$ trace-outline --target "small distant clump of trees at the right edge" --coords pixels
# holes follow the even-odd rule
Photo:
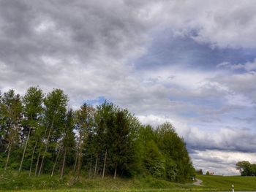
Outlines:
[[[256,164],[251,164],[249,161],[238,161],[236,169],[239,170],[241,176],[255,176]]]

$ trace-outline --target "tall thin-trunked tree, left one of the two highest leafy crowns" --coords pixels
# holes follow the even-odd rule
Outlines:
[[[44,95],[41,89],[37,87],[31,87],[27,90],[25,96],[23,97],[23,115],[26,127],[29,128],[29,133],[26,136],[26,142],[23,148],[23,155],[20,161],[19,172],[22,169],[23,159],[26,153],[26,147],[29,143],[31,131],[34,131],[34,128],[39,127],[39,118],[42,118],[43,96]]]

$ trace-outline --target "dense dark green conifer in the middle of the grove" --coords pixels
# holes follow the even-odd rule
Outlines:
[[[114,178],[117,173],[130,174],[130,166],[135,160],[135,133],[139,127],[137,118],[128,110],[116,108],[114,124],[108,126]]]

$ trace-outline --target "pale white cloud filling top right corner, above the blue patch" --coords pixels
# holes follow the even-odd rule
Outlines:
[[[245,1],[162,1],[159,20],[174,34],[211,47],[255,47],[256,3]]]

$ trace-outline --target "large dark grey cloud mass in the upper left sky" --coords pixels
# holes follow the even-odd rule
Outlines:
[[[112,82],[125,82],[125,61],[144,51],[148,24],[140,7],[118,1],[1,1],[0,7],[1,88],[108,95]]]

